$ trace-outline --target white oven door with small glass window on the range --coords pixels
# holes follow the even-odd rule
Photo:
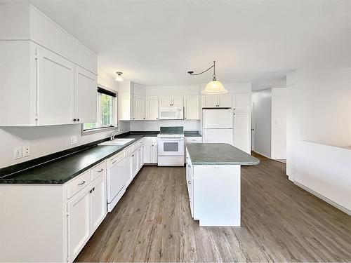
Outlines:
[[[183,137],[158,137],[157,138],[158,156],[184,156]]]

